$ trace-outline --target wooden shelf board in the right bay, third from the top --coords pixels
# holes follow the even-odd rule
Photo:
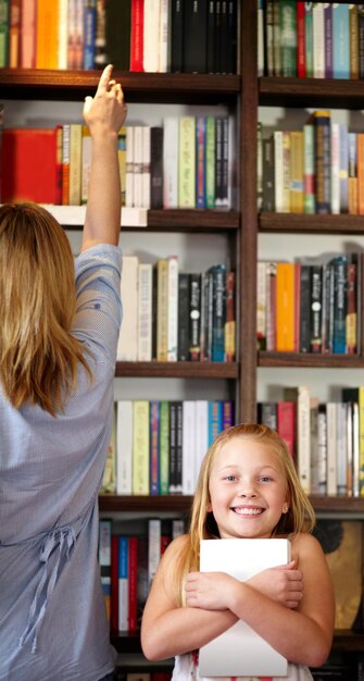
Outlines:
[[[312,367],[315,369],[363,369],[359,355],[315,355],[314,352],[259,352],[259,367]]]

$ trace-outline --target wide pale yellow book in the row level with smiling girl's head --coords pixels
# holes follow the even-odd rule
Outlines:
[[[133,494],[149,494],[149,401],[133,403]]]

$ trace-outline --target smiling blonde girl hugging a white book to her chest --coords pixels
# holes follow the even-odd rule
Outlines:
[[[141,626],[146,657],[176,657],[173,681],[201,679],[198,649],[241,619],[289,660],[281,679],[312,679],[307,666],[326,660],[335,618],[314,522],[277,433],[255,423],[223,432],[202,462],[189,533],[170,544],[153,580]],[[239,537],[289,537],[292,560],[247,582],[198,571],[201,540]],[[243,669],[239,679],[253,681]]]

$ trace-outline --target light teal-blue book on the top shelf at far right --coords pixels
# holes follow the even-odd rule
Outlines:
[[[350,78],[349,3],[332,4],[332,75]]]

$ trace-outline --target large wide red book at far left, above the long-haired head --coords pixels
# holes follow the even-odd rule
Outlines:
[[[57,133],[8,128],[2,133],[2,201],[55,203]]]

